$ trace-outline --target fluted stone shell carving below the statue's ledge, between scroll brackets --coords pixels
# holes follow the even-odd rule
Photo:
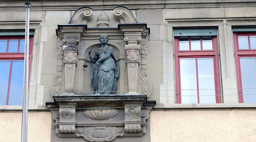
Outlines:
[[[118,114],[118,109],[115,108],[93,108],[93,109],[85,109],[83,111],[84,115],[93,120],[106,120]]]

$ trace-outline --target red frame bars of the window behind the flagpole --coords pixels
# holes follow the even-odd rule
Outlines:
[[[9,80],[8,80],[7,98],[6,98],[6,105],[8,105],[12,62],[13,62],[13,60],[24,60],[25,54],[24,54],[24,52],[19,52],[19,43],[20,43],[20,39],[25,39],[25,36],[0,36],[0,39],[7,39],[6,52],[0,52],[0,60],[11,60]],[[19,39],[17,52],[8,52],[9,39]],[[33,47],[33,36],[29,36],[29,75],[30,75],[31,61],[32,61],[32,47]]]

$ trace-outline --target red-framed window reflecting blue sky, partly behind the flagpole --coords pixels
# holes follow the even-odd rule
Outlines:
[[[32,36],[29,37],[29,42],[30,70]],[[0,105],[23,103],[24,46],[24,36],[0,36]]]

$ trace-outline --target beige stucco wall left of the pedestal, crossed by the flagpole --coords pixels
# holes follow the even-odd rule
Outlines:
[[[50,142],[50,112],[28,113],[28,142]],[[22,112],[0,113],[1,142],[21,141]]]

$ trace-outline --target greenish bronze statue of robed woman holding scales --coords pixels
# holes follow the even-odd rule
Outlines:
[[[89,48],[89,58],[92,62],[91,85],[96,95],[115,94],[117,88],[117,78],[119,76],[119,66],[113,54],[113,47],[107,46],[109,37],[102,35],[99,37],[101,47],[91,56],[92,48]]]

